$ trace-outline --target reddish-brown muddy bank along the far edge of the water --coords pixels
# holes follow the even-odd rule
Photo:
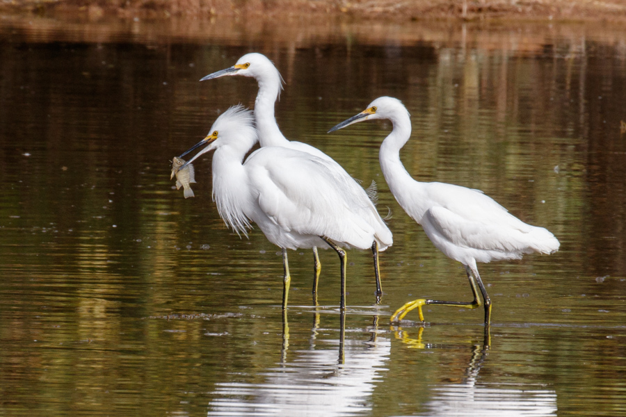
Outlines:
[[[9,0],[3,14],[97,17],[238,16],[318,19],[531,19],[624,22],[626,0]]]

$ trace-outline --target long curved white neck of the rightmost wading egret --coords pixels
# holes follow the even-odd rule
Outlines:
[[[426,211],[426,207],[420,204],[420,201],[424,200],[420,196],[425,192],[425,184],[412,179],[400,160],[400,149],[411,136],[410,119],[406,113],[390,120],[394,129],[380,145],[378,154],[380,169],[383,170],[385,181],[398,204],[411,218],[419,222]]]

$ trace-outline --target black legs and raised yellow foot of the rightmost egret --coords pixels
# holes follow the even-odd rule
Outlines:
[[[476,268],[476,263],[474,262],[473,268],[467,265],[465,266],[465,272],[467,272],[467,279],[470,280],[470,287],[472,288],[472,294],[474,295],[474,300],[472,302],[464,302],[464,301],[441,301],[441,300],[425,300],[423,298],[419,298],[417,300],[410,301],[399,309],[396,310],[394,315],[391,318],[392,322],[402,320],[406,314],[413,310],[417,309],[417,313],[419,314],[419,320],[424,321],[424,313],[422,313],[422,306],[426,304],[436,304],[440,306],[456,306],[456,307],[465,307],[467,309],[476,309],[477,307],[483,305],[481,302],[481,297],[479,296],[479,288],[483,295],[483,299],[485,300],[485,327],[489,327],[491,324],[491,300],[489,295],[487,294],[487,290],[483,285],[483,281],[481,276],[479,275],[478,269]],[[478,287],[478,288],[476,288]],[[487,330],[485,329],[485,332]]]

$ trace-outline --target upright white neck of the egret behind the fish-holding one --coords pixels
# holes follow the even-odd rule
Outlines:
[[[255,100],[255,122],[259,131],[259,144],[265,146],[284,146],[289,142],[276,124],[274,105],[280,94],[280,73],[273,68],[257,78],[259,92]]]

